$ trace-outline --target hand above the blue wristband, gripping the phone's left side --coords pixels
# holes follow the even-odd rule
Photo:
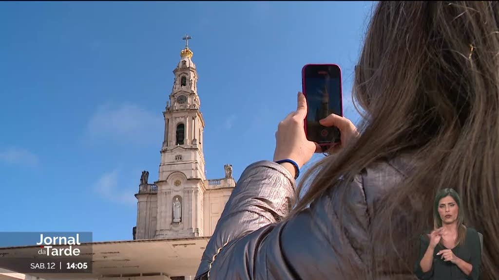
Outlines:
[[[298,106],[295,112],[291,112],[279,123],[275,133],[274,161],[281,159],[292,159],[303,166],[314,154],[320,150],[320,146],[307,140],[303,129],[304,119],[307,115],[307,102],[305,96],[298,93]]]

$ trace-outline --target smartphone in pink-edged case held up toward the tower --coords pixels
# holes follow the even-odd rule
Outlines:
[[[307,64],[301,69],[302,92],[307,101],[305,135],[325,151],[340,142],[340,130],[324,127],[319,120],[330,114],[343,117],[341,69],[336,64]]]

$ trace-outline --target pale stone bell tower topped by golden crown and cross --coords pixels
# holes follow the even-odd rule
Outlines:
[[[159,166],[155,238],[203,236],[205,158],[198,73],[186,35],[173,70],[172,91],[163,116],[165,134]]]

